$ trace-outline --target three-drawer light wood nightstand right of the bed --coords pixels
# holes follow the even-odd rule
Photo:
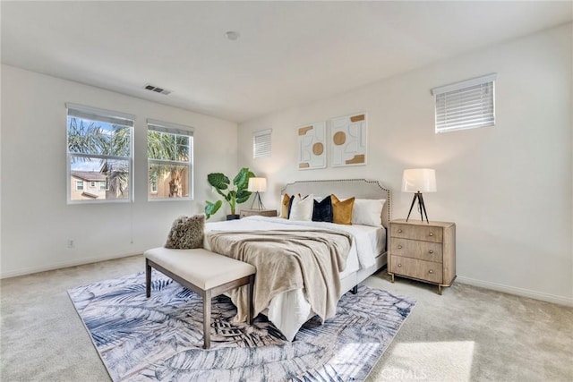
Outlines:
[[[456,278],[456,225],[448,222],[392,220],[388,273],[442,286]]]

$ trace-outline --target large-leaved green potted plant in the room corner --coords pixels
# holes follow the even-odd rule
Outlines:
[[[227,215],[227,220],[238,219],[239,216],[235,213],[235,208],[237,204],[244,203],[251,197],[251,191],[247,191],[249,186],[249,178],[254,177],[255,174],[252,173],[247,167],[243,167],[238,174],[236,174],[235,179],[233,179],[233,184],[227,178],[227,175],[221,173],[211,173],[207,175],[207,182],[219,195],[221,195],[229,206],[231,207],[231,215]],[[216,202],[211,202],[207,200],[207,205],[205,206],[205,215],[209,219],[211,215],[215,215],[218,208],[223,205],[223,200],[218,199]]]

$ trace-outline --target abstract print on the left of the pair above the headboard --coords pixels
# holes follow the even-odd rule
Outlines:
[[[299,170],[326,167],[326,122],[304,125],[298,129]]]

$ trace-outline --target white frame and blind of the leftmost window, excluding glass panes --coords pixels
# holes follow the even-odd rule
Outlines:
[[[90,204],[90,203],[132,203],[133,202],[133,126],[135,124],[135,115],[129,115],[121,112],[115,112],[97,107],[84,106],[66,102],[67,109],[65,134],[66,134],[66,152],[67,152],[67,165],[66,165],[66,193],[67,204]],[[68,128],[67,117],[74,116],[80,119],[88,119],[90,121],[98,121],[103,123],[115,123],[128,126],[130,128],[130,142],[129,142],[129,157],[115,157],[98,154],[84,154],[70,152],[68,148]],[[128,197],[125,199],[72,199],[71,192],[71,179],[72,179],[72,157],[89,157],[94,159],[109,159],[109,160],[122,160],[128,163]],[[84,182],[85,183],[85,182]],[[85,191],[85,187],[84,190]]]

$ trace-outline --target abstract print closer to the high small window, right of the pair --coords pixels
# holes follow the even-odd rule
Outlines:
[[[366,164],[366,114],[346,115],[330,120],[331,165]]]

